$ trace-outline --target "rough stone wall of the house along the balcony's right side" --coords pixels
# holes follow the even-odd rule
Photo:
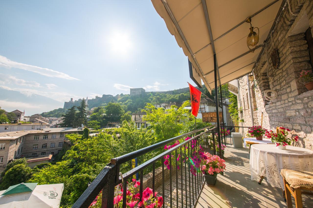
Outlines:
[[[313,33],[313,1],[290,0],[290,6],[291,10],[299,15],[297,17],[291,15],[287,5],[272,33],[273,44],[280,59],[279,68],[273,68],[270,54],[274,47],[270,42],[267,48],[269,63],[267,63],[264,49],[264,53],[254,69],[256,87],[251,90],[257,106],[257,110],[253,112],[254,125],[261,124],[261,113],[263,112],[263,127],[275,130],[276,126],[284,126],[292,129],[293,136],[300,137],[300,142],[294,145],[313,150],[313,91],[307,91],[304,81],[299,76],[302,70],[312,70],[312,67],[309,63],[305,31],[300,31],[297,26],[307,15],[309,22],[307,28],[310,26]],[[271,82],[266,73],[268,66],[269,76],[272,77]],[[271,89],[275,90],[278,96],[268,102],[264,99],[264,90],[270,89],[270,84]],[[239,91],[243,104],[243,97],[246,96],[247,90],[239,88]],[[247,102],[246,98],[245,102]],[[245,121],[244,126],[253,125],[249,110],[244,110],[242,116]]]

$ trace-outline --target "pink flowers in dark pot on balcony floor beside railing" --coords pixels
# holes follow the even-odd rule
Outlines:
[[[206,183],[210,186],[215,186],[217,174],[225,170],[225,161],[217,155],[211,155],[208,152],[204,153],[206,159],[202,160],[202,173]]]

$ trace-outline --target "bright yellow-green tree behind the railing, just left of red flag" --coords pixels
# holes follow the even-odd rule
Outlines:
[[[143,121],[148,122],[151,128],[155,131],[158,141],[163,141],[174,136],[178,136],[180,131],[184,129],[184,123],[192,118],[191,113],[184,107],[190,105],[186,101],[179,108],[172,105],[170,109],[155,108],[152,104],[148,103],[142,112],[146,112],[143,116]]]

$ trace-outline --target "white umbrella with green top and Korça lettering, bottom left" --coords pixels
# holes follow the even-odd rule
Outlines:
[[[0,207],[58,208],[64,189],[63,183],[37,185],[21,183],[0,191]]]

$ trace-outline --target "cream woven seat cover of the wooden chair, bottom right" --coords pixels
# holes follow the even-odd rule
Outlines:
[[[280,175],[292,188],[313,188],[313,172],[282,169]]]

